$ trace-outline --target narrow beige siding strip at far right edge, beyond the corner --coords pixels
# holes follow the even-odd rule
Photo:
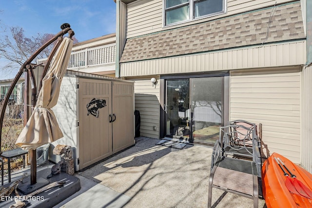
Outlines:
[[[301,164],[312,173],[312,65],[302,72],[302,144]]]

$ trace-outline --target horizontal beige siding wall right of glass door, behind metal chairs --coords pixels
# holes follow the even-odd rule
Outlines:
[[[265,156],[300,163],[300,71],[231,72],[230,121],[262,123]]]

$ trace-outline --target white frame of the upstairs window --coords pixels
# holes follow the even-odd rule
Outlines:
[[[168,8],[168,9],[172,9],[172,8],[175,8],[175,7],[179,7],[181,5],[187,5],[187,4],[190,5],[189,19],[188,20],[179,21],[179,22],[175,22],[175,23],[172,23],[172,24],[166,24],[166,0],[163,0],[162,1],[162,3],[163,3],[163,6],[162,6],[162,8],[163,8],[163,10],[162,10],[162,19],[163,19],[162,23],[163,23],[163,27],[169,27],[169,26],[173,26],[173,25],[182,24],[182,23],[185,23],[185,22],[190,22],[190,21],[194,21],[194,20],[198,20],[198,19],[207,18],[207,17],[214,17],[214,16],[217,16],[217,15],[221,15],[221,14],[227,13],[227,0],[223,0],[223,10],[222,11],[195,18],[194,17],[194,2],[196,2],[196,1],[200,1],[200,0],[189,0],[188,3],[183,3],[183,4],[179,4],[177,6]]]

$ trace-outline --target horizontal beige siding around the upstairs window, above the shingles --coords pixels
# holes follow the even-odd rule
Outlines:
[[[252,11],[264,7],[281,4],[290,0],[228,0],[227,13],[214,17],[198,19],[183,24],[163,27],[163,0],[137,0],[127,4],[127,38],[159,32],[162,30],[196,24],[221,17]]]

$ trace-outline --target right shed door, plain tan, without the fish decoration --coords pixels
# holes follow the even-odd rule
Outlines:
[[[113,152],[135,143],[133,83],[113,82]]]

